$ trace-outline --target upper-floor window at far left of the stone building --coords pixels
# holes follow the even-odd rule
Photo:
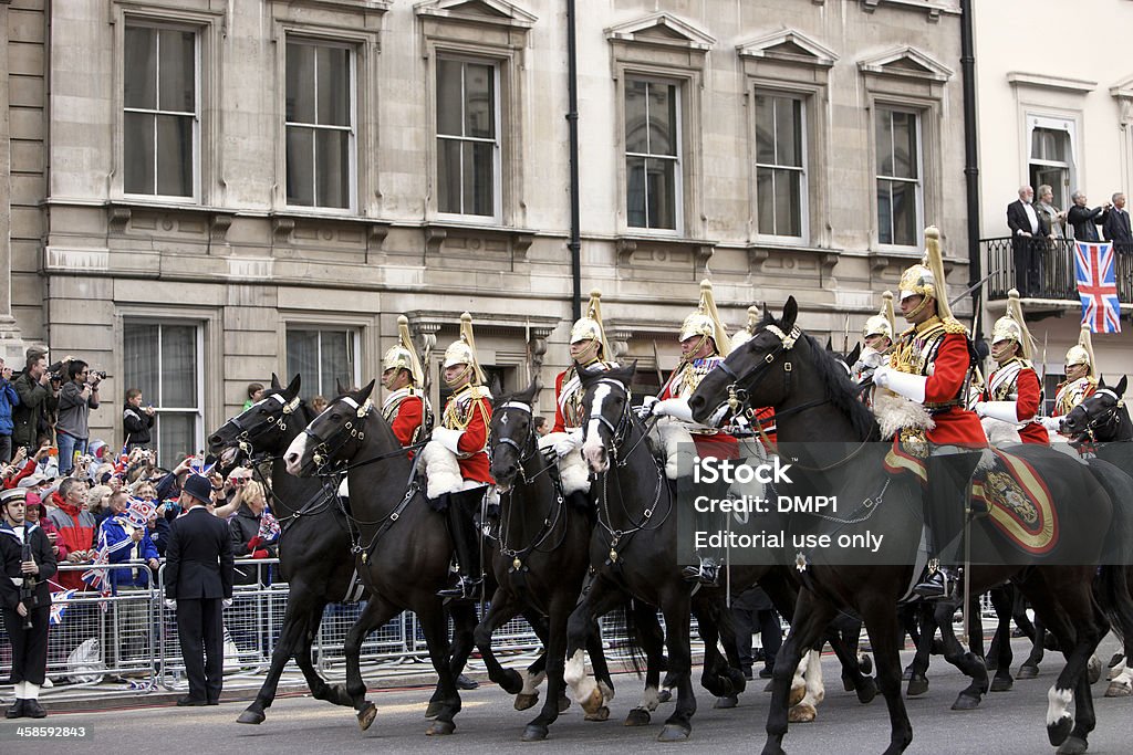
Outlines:
[[[197,34],[129,25],[123,66],[126,194],[196,194]]]

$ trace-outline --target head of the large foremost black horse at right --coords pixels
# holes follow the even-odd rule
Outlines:
[[[790,357],[801,332],[795,328],[799,304],[794,297],[786,300],[783,317],[776,319],[764,308],[764,319],[751,337],[710,370],[692,397],[692,419],[717,427],[724,417],[747,407],[776,406],[786,398]],[[777,378],[777,379],[776,379]]]

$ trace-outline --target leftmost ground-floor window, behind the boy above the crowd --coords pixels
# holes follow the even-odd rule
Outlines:
[[[203,448],[202,346],[202,328],[193,323],[123,324],[123,386],[139,388],[142,401],[156,410],[151,446],[157,458],[184,458]]]

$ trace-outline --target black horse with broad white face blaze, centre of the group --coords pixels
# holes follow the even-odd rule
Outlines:
[[[582,655],[598,617],[628,599],[658,608],[665,619],[668,675],[678,694],[675,709],[658,739],[681,741],[690,736],[696,713],[689,645],[692,590],[676,563],[675,494],[630,409],[632,375],[632,367],[581,375],[582,455],[597,475],[594,484],[598,526],[590,539],[594,578],[569,620],[565,677],[576,698],[585,701],[585,709],[600,705],[603,693],[586,677]],[[721,590],[698,592],[697,617],[705,641],[701,683],[723,697],[742,690],[734,630]],[[718,637],[723,637],[726,661],[716,647]],[[655,669],[661,664],[659,646],[653,642],[644,650],[649,661],[646,695],[628,723],[647,721],[657,704]]]

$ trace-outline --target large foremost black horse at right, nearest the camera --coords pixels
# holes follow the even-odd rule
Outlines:
[[[714,423],[735,406],[743,410],[774,406],[781,443],[807,441],[791,446],[792,454],[798,457],[798,467],[807,471],[807,483],[819,490],[837,490],[840,500],[861,501],[860,505],[851,504],[854,521],[837,522],[837,531],[859,533],[861,522],[866,522],[875,532],[915,543],[922,526],[921,495],[906,480],[912,475],[891,477],[884,471],[887,445],[868,443],[874,428],[872,417],[857,401],[854,387],[844,371],[833,367],[821,348],[795,327],[796,314],[793,298],[789,299],[782,319],[765,314],[764,323],[751,340],[701,381],[689,402],[693,418]],[[730,397],[733,400],[731,405]],[[827,445],[843,441],[844,445],[827,451],[817,441],[827,441]],[[973,566],[965,580],[972,593],[979,594],[1019,575],[1024,592],[1058,637],[1067,658],[1049,695],[1048,736],[1053,744],[1062,745],[1060,753],[1084,752],[1087,736],[1096,723],[1085,663],[1109,628],[1107,616],[1090,589],[1093,565],[1101,558],[1107,535],[1122,538],[1128,532],[1111,532],[1111,524],[1124,526],[1125,522],[1111,520],[1109,498],[1081,464],[1046,448],[1020,448],[1017,453],[1042,472],[1060,514],[1060,540],[1056,548],[1072,549],[1070,552],[1083,566],[1038,566],[1024,570],[1019,565],[1011,565],[1008,557],[1013,554],[1004,552],[1003,566]],[[875,516],[881,509],[879,499],[886,504],[884,517]],[[1073,501],[1073,512],[1065,508],[1068,501]],[[970,537],[989,549],[999,542],[986,520],[973,521]],[[893,539],[887,540],[886,548]],[[1010,548],[1005,542],[1003,547]],[[900,565],[902,556],[906,559],[904,565]],[[823,558],[808,563],[806,554],[799,558],[800,568],[809,573],[809,582],[781,650],[786,666],[798,662],[801,647],[817,638],[836,610],[842,607],[857,610],[869,629],[877,655],[878,684],[889,709],[892,735],[886,752],[904,750],[912,739],[912,727],[900,694],[896,601],[913,576],[908,548],[898,548],[895,552],[883,549],[876,563],[864,565],[828,564]],[[886,563],[897,565],[883,565]],[[947,602],[938,609],[937,623],[951,625],[940,619],[944,611],[951,616],[952,607]],[[980,684],[982,689],[979,692],[986,690],[987,672],[982,662],[971,653],[963,653],[959,642],[949,635],[951,632],[945,632],[946,657],[973,678],[973,685]],[[764,749],[768,754],[783,752],[787,685],[789,671],[776,664]],[[972,693],[971,688],[964,690],[961,700]],[[1076,722],[1070,712],[1072,703]]]

